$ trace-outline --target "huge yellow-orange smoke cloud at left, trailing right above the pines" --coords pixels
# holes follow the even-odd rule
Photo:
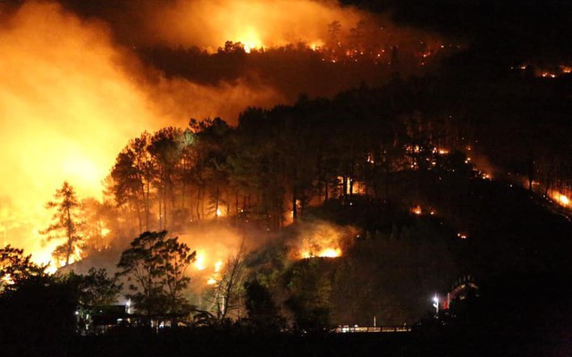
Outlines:
[[[242,83],[199,86],[145,70],[101,21],[55,3],[26,2],[0,24],[0,227],[7,243],[42,246],[44,203],[64,180],[80,196],[101,180],[131,137],[189,117],[236,116],[266,104],[272,91]]]

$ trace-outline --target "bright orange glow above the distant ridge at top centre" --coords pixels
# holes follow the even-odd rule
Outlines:
[[[155,19],[141,24],[139,41],[199,46],[210,52],[225,41],[242,43],[247,53],[299,42],[315,49],[327,40],[328,24],[341,21],[341,30],[349,33],[367,17],[334,1],[308,0],[177,0],[172,6],[156,4],[147,10]]]

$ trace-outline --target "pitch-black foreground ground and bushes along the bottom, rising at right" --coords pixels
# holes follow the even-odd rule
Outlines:
[[[65,333],[56,311],[43,304],[34,316],[13,314],[9,323],[3,316],[0,357],[570,356],[570,281],[570,274],[555,271],[501,274],[439,319],[428,313],[412,332],[399,333],[271,333],[242,323],[77,336]]]

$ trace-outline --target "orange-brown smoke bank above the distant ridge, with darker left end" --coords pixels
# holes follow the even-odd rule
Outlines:
[[[85,16],[104,18],[130,46],[198,46],[216,51],[227,40],[248,46],[324,42],[328,24],[349,30],[367,17],[337,1],[312,0],[96,0],[63,3]],[[99,4],[98,4],[99,3]]]

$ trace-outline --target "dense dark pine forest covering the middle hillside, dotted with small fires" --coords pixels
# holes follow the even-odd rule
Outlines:
[[[73,244],[85,265],[117,260],[145,231],[235,229],[249,242],[240,281],[262,283],[306,328],[414,323],[458,278],[568,271],[555,196],[570,180],[568,78],[471,78],[395,73],[383,87],[247,108],[236,127],[193,119],[144,132],[118,154],[105,202],[82,205]],[[317,257],[324,239],[340,258]]]

